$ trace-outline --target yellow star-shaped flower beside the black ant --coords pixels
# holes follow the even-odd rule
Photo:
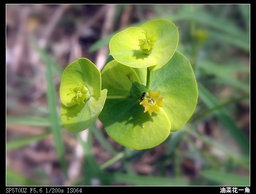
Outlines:
[[[159,107],[164,107],[163,97],[160,96],[159,92],[152,92],[149,90],[147,97],[143,97],[143,100],[139,103],[144,107],[144,113],[148,112],[152,116],[153,112],[159,113]]]

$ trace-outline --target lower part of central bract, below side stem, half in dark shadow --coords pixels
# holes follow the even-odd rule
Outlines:
[[[143,111],[138,100],[107,100],[99,119],[116,142],[133,149],[147,149],[162,143],[171,126],[164,111],[152,116]]]

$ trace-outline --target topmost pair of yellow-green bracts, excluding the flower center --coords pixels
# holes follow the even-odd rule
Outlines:
[[[143,54],[139,39],[144,39],[142,32],[155,35],[156,44],[150,54]],[[178,28],[166,19],[156,19],[140,27],[130,27],[112,37],[109,43],[110,55],[117,62],[133,67],[150,67],[157,70],[164,66],[173,56],[178,45]]]

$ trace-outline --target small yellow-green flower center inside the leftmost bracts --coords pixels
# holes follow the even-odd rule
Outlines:
[[[81,83],[79,83],[73,89],[71,89],[70,87],[70,91],[71,92],[68,93],[67,95],[75,94],[75,96],[72,98],[72,101],[77,102],[78,105],[80,103],[84,103],[84,100],[90,97],[90,93],[87,87],[85,85],[81,85]]]

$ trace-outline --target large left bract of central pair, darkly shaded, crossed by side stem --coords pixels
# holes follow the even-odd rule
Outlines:
[[[132,84],[126,75],[131,73],[138,83],[139,75],[146,77],[143,69],[139,75],[134,70],[115,60],[109,62],[102,70],[102,88],[107,88],[109,95],[130,95]],[[143,110],[137,99],[107,100],[99,119],[116,142],[133,149],[152,148],[168,137],[170,122],[164,111],[151,117]]]

